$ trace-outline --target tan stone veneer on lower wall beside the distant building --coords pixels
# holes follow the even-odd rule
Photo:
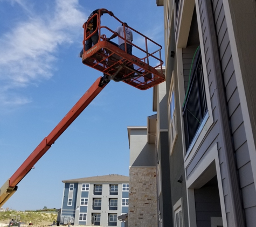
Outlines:
[[[156,168],[129,170],[128,227],[157,227]]]

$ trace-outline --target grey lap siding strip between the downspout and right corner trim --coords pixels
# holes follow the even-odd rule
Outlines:
[[[250,214],[256,206],[256,191],[254,187],[251,161],[246,141],[244,120],[241,112],[240,98],[237,89],[236,75],[234,73],[234,65],[229,34],[227,32],[227,23],[223,8],[223,1],[213,0],[212,5],[215,15],[219,56],[222,65],[224,86],[226,90],[227,108],[229,110],[234,152],[237,158],[240,188],[241,194],[243,196],[243,207],[245,209],[247,226],[255,226],[256,216],[252,216]],[[223,178],[223,182],[225,182],[225,178]],[[224,195],[226,196],[225,189]],[[228,211],[229,209],[227,207],[226,212]],[[227,218],[229,219],[229,216],[227,216]]]

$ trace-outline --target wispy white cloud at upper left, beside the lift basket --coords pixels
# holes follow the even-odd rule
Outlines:
[[[56,0],[53,13],[40,12],[40,16],[27,8],[27,1],[13,2],[30,13],[29,19],[0,37],[0,106],[30,102],[26,97],[10,94],[11,90],[49,79],[55,70],[58,49],[72,43],[85,20],[78,0]]]

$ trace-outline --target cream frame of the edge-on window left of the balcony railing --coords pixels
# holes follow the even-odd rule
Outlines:
[[[172,71],[171,75],[171,84],[170,84],[170,91],[168,97],[168,120],[169,120],[169,146],[170,146],[170,155],[174,151],[174,145],[177,140],[178,136],[178,125],[177,125],[177,103],[176,103],[176,94],[175,94],[175,78],[174,78],[174,71]],[[173,107],[174,111],[171,113],[171,104],[174,101]]]

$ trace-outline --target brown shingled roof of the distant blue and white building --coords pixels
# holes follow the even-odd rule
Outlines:
[[[129,182],[129,176],[123,176],[119,174],[109,174],[105,176],[91,176],[89,178],[78,178],[78,179],[71,179],[71,180],[63,180],[63,183],[66,182]]]

